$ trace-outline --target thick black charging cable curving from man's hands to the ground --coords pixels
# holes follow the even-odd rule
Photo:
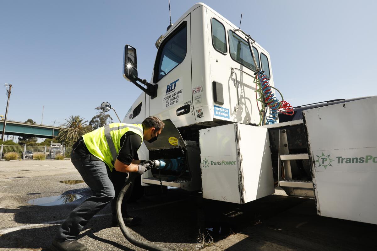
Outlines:
[[[118,198],[116,199],[116,219],[118,220],[118,224],[120,227],[120,230],[122,231],[124,237],[132,243],[135,246],[138,246],[139,248],[144,248],[149,251],[170,251],[166,248],[161,248],[157,245],[154,245],[152,243],[144,242],[142,240],[138,240],[135,237],[132,236],[132,234],[128,231],[128,227],[124,224],[123,217],[122,217],[122,201],[123,198],[128,198],[130,196],[130,191],[128,189],[132,186],[133,181],[135,181],[136,173],[129,173],[129,177],[126,180],[126,183],[124,184],[122,190],[120,191]]]

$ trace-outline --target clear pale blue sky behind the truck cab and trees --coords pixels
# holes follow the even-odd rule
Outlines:
[[[171,0],[174,23],[196,1]],[[275,87],[291,105],[377,94],[376,1],[203,1],[271,56]],[[140,91],[122,76],[123,47],[138,50],[150,80],[164,1],[0,0],[0,114],[51,124],[90,120],[108,101],[123,119]],[[115,114],[110,113],[115,118]]]

